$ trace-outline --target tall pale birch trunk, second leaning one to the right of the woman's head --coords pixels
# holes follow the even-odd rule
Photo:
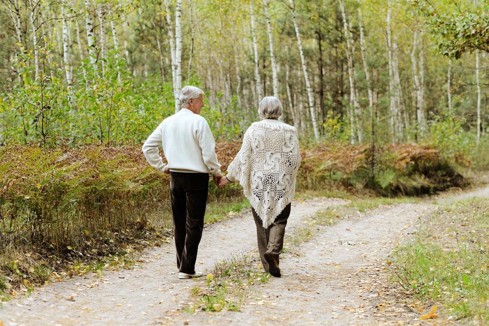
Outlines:
[[[351,111],[351,116],[350,116],[350,123],[353,123],[352,127],[356,128],[356,134],[358,137],[358,141],[362,141],[362,129],[360,122],[358,120],[359,117],[356,116],[357,113],[359,113],[359,103],[356,97],[356,87],[355,87],[355,68],[353,66],[353,40],[350,35],[350,30],[348,28],[348,21],[346,18],[346,8],[345,8],[345,2],[344,0],[338,0],[340,9],[341,9],[341,16],[343,17],[343,32],[345,36],[345,41],[346,41],[346,58],[347,58],[347,66],[348,66],[348,80],[350,82],[350,106],[353,108]],[[351,127],[351,128],[352,128]],[[351,143],[355,143],[355,133],[353,131],[350,132],[350,141]]]

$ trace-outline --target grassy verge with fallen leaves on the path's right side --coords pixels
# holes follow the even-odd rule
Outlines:
[[[442,207],[414,243],[394,253],[395,280],[426,303],[442,303],[454,319],[489,322],[489,201]]]

